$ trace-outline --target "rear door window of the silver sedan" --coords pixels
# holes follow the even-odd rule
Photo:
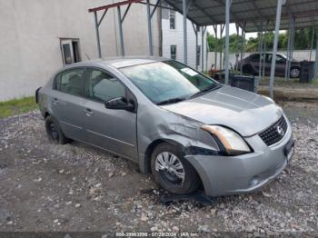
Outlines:
[[[58,74],[55,89],[66,94],[83,95],[84,69],[73,69]]]

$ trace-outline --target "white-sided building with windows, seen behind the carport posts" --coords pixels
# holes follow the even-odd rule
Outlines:
[[[190,20],[187,20],[187,46],[188,65],[201,71],[202,65],[202,29],[199,27],[198,47],[195,49],[194,27]],[[162,9],[162,35],[163,35],[163,56],[184,62],[184,16],[170,9]],[[206,69],[206,31],[204,34],[204,70]]]

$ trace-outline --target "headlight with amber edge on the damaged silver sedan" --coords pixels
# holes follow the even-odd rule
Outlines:
[[[219,125],[204,124],[201,129],[214,134],[224,145],[227,154],[237,155],[251,152],[250,147],[244,142],[241,135]]]

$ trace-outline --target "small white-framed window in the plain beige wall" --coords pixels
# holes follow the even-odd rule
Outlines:
[[[73,64],[81,61],[79,39],[61,39],[63,64]]]

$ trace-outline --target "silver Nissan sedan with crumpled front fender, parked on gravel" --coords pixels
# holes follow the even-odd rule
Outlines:
[[[71,64],[36,99],[52,142],[131,159],[171,193],[251,192],[293,155],[291,125],[273,100],[164,58]]]

